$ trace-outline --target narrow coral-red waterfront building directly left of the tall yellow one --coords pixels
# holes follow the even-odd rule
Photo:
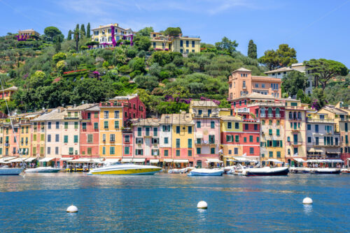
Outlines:
[[[99,106],[85,104],[76,110],[81,111],[80,158],[99,158]]]

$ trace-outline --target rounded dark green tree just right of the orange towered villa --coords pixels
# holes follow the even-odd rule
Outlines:
[[[297,70],[288,72],[282,78],[281,88],[289,96],[295,96],[298,90],[304,91],[307,87],[307,77]]]

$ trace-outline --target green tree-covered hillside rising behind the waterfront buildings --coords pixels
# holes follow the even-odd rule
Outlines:
[[[178,52],[154,51],[146,36],[137,36],[134,46],[96,50],[87,50],[89,41],[80,38],[76,52],[73,40],[57,45],[45,39],[18,42],[14,35],[0,37],[0,70],[6,73],[2,80],[6,87],[20,88],[10,108],[28,112],[131,93],[139,94],[150,115],[188,110],[191,98],[216,99],[221,107],[229,107],[227,82],[232,70],[244,67],[253,75],[267,70],[258,59],[214,45],[203,44],[201,53],[183,57]],[[349,85],[349,77],[334,84],[337,89],[330,88],[330,103],[344,100],[335,92],[347,91],[346,82]]]

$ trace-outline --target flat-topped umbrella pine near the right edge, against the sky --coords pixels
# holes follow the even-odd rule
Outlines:
[[[311,59],[304,62],[315,78],[315,86],[321,84],[322,90],[327,86],[328,81],[338,75],[345,76],[349,73],[348,68],[339,62],[327,59]]]

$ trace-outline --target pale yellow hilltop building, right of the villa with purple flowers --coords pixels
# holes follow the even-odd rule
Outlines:
[[[151,46],[155,50],[168,50],[171,52],[200,52],[200,36],[165,36],[159,32],[151,33]]]

